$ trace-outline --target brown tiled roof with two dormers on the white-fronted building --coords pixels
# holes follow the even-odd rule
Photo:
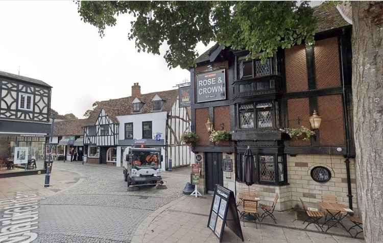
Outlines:
[[[132,98],[132,96],[108,101],[100,101],[98,103],[97,108],[95,108],[90,113],[88,118],[88,124],[94,125],[94,123],[97,121],[97,117],[99,116],[101,109],[105,110],[106,114],[114,123],[118,123],[118,120],[116,118],[116,116],[118,115],[132,115],[158,112],[152,110],[152,99],[156,94],[158,94],[158,96],[160,96],[160,98],[165,101],[165,104],[159,111],[170,112],[173,104],[177,100],[178,89],[141,94],[141,96],[138,97],[138,99],[143,103],[143,106],[139,112],[132,111],[132,101],[135,98]]]

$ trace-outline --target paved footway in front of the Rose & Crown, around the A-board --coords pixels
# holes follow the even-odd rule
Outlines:
[[[218,242],[218,238],[207,228],[212,197],[184,196],[153,212],[142,221],[134,233],[132,243],[146,242]],[[276,216],[278,226],[258,225],[241,222],[245,242],[256,243],[362,243],[364,240],[341,235],[291,229],[286,224],[302,227],[302,221],[294,221],[289,212]],[[266,219],[265,219],[266,221]],[[294,221],[294,222],[293,222]],[[266,221],[266,223],[268,223]],[[304,226],[303,226],[304,227]],[[342,233],[339,229],[332,233]],[[230,229],[225,227],[222,242],[242,242]]]

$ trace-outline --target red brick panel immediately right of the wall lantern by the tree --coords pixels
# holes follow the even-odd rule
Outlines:
[[[342,102],[341,94],[318,97],[318,113],[322,117],[319,128],[319,144],[322,146],[346,144]]]

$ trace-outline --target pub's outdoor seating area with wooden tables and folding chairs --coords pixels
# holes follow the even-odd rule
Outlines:
[[[334,194],[324,194],[318,208],[307,207],[300,199],[299,208],[281,212],[275,211],[278,198],[278,193],[275,193],[271,205],[262,204],[260,192],[250,188],[238,192],[237,210],[243,226],[249,227],[250,222],[255,224],[255,228],[264,224],[353,238],[363,237],[362,220],[353,210],[339,203]]]

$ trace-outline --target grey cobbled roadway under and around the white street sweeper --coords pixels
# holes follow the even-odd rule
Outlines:
[[[55,162],[81,180],[40,201],[38,238],[34,242],[130,242],[150,213],[182,196],[189,168],[164,172],[167,189],[127,191],[121,167]]]

